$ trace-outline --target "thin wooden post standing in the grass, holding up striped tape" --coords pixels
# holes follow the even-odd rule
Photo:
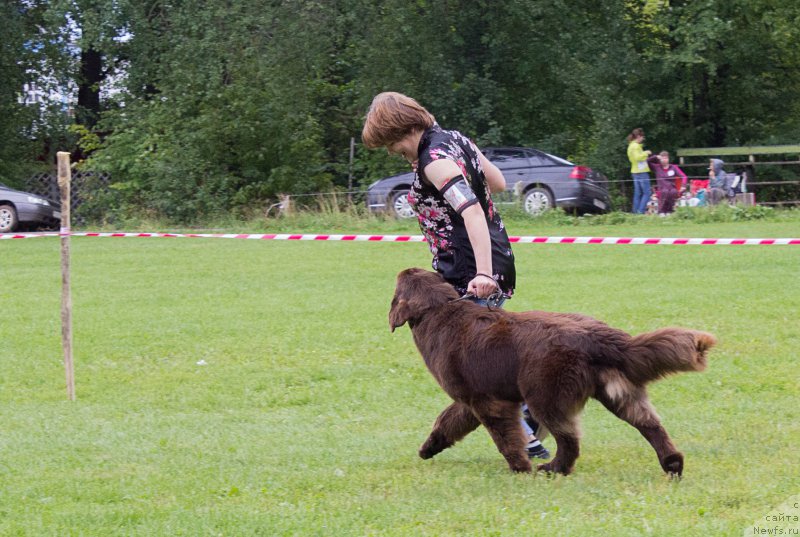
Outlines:
[[[70,170],[69,153],[59,151],[58,188],[61,190],[61,346],[64,349],[64,372],[67,378],[67,398],[75,400],[75,367],[72,361],[72,293],[70,291]]]

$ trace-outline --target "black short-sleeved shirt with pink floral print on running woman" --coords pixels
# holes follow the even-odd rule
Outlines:
[[[503,294],[511,297],[516,282],[514,253],[503,221],[492,203],[477,148],[460,132],[446,131],[434,125],[422,134],[418,155],[408,201],[417,214],[419,227],[433,254],[433,269],[462,295],[467,292],[467,285],[476,272],[475,254],[464,219],[424,173],[425,167],[434,160],[449,159],[461,169],[483,209],[492,242],[492,276],[500,284]]]

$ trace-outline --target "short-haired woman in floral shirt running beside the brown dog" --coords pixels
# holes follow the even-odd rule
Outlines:
[[[416,172],[408,201],[433,254],[433,269],[473,302],[501,306],[516,281],[511,243],[491,197],[505,189],[503,173],[466,136],[442,129],[401,93],[375,96],[362,139],[369,148],[402,156]],[[522,423],[531,435],[528,454],[549,458]]]

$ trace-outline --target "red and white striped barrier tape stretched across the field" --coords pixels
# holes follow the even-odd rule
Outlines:
[[[0,233],[0,239],[30,239],[58,237],[60,233]],[[312,235],[289,233],[96,233],[71,232],[72,237],[161,237],[161,238],[213,238],[289,241],[365,241],[365,242],[425,242],[422,235]],[[646,237],[510,237],[513,243],[530,244],[644,244],[690,246],[800,246],[798,239],[689,239]]]

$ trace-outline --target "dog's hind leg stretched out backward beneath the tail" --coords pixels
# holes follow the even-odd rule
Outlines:
[[[608,392],[611,392],[610,394]],[[614,393],[601,387],[595,394],[612,414],[636,427],[653,446],[661,468],[671,476],[680,477],[683,473],[683,454],[675,448],[669,434],[661,425],[653,405],[647,397],[647,391],[638,386],[624,393]]]

